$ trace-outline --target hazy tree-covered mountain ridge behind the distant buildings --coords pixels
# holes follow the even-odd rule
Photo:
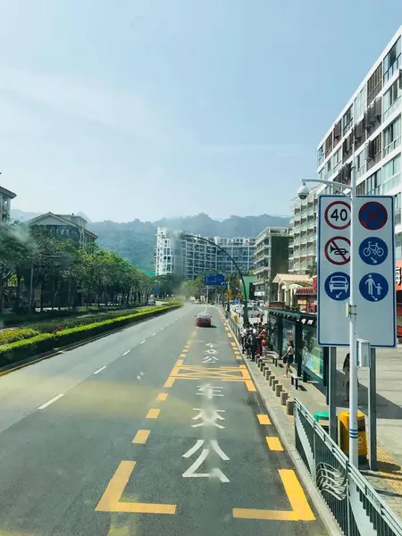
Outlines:
[[[82,213],[80,214],[88,218]],[[26,222],[38,216],[37,213],[25,213],[18,209],[12,210],[12,218]],[[230,216],[226,220],[214,220],[208,214],[200,213],[195,216],[179,218],[163,218],[156,222],[117,223],[111,221],[88,222],[88,229],[98,236],[97,243],[115,251],[144,270],[154,269],[155,234],[157,227],[167,227],[171,230],[183,230],[188,233],[200,234],[205,237],[234,237],[253,238],[265,227],[286,227],[289,217],[270,216]]]

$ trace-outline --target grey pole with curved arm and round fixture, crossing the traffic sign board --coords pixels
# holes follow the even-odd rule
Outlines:
[[[350,297],[348,303],[349,317],[349,460],[350,463],[358,467],[358,448],[357,448],[357,338],[356,338],[356,277],[355,277],[355,256],[356,239],[355,230],[356,221],[356,167],[355,154],[353,155],[350,185],[341,182],[322,179],[302,179],[302,186],[297,190],[297,196],[300,199],[306,199],[309,190],[306,182],[318,182],[336,190],[340,194],[346,195],[350,199]],[[344,194],[344,189],[349,190]]]

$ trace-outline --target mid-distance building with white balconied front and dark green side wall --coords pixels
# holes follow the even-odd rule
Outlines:
[[[272,280],[287,272],[289,263],[289,227],[266,227],[255,239],[255,296],[269,299]]]

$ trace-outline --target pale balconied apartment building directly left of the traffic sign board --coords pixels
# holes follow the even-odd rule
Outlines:
[[[306,199],[294,197],[291,203],[289,273],[303,275],[316,262],[318,191],[310,190]]]

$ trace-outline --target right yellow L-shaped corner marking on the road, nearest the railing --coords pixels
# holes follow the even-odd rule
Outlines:
[[[280,469],[281,481],[289,498],[291,510],[260,510],[256,508],[233,508],[233,517],[260,519],[264,521],[314,521],[306,494],[292,469]]]

